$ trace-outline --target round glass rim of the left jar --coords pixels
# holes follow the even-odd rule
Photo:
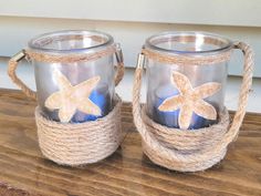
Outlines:
[[[72,48],[72,49],[55,49],[55,48],[44,48],[44,44],[49,44],[53,41],[62,41],[62,38],[76,38],[76,39],[86,39],[86,38],[96,38],[100,39],[101,43],[96,43],[90,47],[82,48]],[[79,52],[90,52],[90,50],[100,50],[105,47],[112,45],[114,39],[112,35],[95,31],[95,30],[63,30],[63,31],[53,31],[40,34],[28,42],[29,49],[48,52],[48,53],[79,53]]]

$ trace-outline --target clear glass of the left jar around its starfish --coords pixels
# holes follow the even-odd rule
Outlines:
[[[60,31],[42,34],[29,42],[29,48],[48,54],[84,54],[104,50],[114,44],[111,35],[96,31]],[[101,80],[92,91],[90,100],[102,111],[95,116],[76,111],[71,123],[94,121],[112,110],[114,95],[114,66],[113,54],[105,55],[95,61],[74,63],[46,63],[33,60],[36,82],[38,103],[43,114],[54,121],[60,121],[59,110],[50,110],[44,105],[45,100],[54,92],[60,91],[54,72],[60,71],[74,86],[91,78],[100,76]],[[61,100],[61,102],[63,102]]]

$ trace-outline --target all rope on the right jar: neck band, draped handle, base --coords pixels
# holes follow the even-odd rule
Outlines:
[[[142,136],[144,153],[157,165],[180,172],[197,172],[207,169],[219,163],[226,155],[228,145],[233,142],[242,124],[248,95],[252,83],[253,52],[249,45],[239,42],[233,44],[234,49],[242,50],[244,54],[243,79],[239,94],[238,111],[230,123],[227,110],[219,113],[219,122],[209,127],[197,131],[184,131],[170,128],[157,124],[146,114],[146,106],[139,104],[140,84],[143,75],[144,58],[167,63],[178,64],[213,64],[223,62],[230,58],[231,51],[223,56],[179,56],[160,54],[143,50],[135,72],[133,89],[133,115],[134,123]]]

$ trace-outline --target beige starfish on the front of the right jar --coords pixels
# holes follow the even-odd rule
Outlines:
[[[179,72],[174,72],[170,80],[178,89],[179,95],[166,99],[158,110],[173,112],[180,109],[178,124],[181,130],[189,127],[194,112],[208,120],[217,118],[217,111],[203,99],[217,93],[221,89],[220,83],[209,82],[194,89],[188,78]]]

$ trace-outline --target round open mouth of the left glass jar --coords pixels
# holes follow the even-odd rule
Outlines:
[[[109,34],[98,31],[58,31],[32,39],[29,48],[44,52],[84,52],[113,43]]]

